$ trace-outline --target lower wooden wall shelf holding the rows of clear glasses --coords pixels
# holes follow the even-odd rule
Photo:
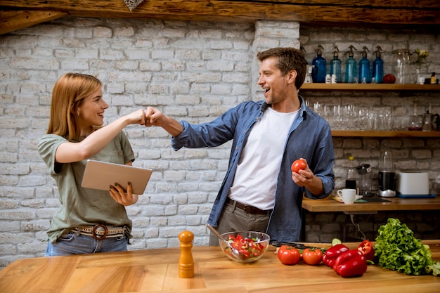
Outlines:
[[[332,130],[333,137],[417,137],[439,138],[440,131],[362,131]]]

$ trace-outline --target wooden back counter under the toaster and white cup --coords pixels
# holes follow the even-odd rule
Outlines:
[[[344,204],[330,198],[324,200],[309,200],[304,198],[302,208],[311,212],[344,211],[347,214],[368,214],[376,211],[423,211],[440,209],[440,197],[407,198],[400,197],[372,197],[389,200],[389,202],[355,202]]]

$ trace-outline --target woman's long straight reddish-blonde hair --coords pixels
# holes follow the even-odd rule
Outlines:
[[[53,86],[51,117],[46,134],[72,141],[79,137],[77,108],[84,98],[101,89],[102,83],[88,74],[66,73]]]

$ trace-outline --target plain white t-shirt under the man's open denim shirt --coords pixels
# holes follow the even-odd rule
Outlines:
[[[229,197],[259,209],[273,209],[287,134],[299,115],[267,108],[256,122],[240,155]]]

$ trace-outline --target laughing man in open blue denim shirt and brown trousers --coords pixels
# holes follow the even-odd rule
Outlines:
[[[327,197],[335,187],[335,161],[330,126],[306,108],[298,95],[306,60],[295,48],[271,48],[261,61],[259,102],[246,101],[212,122],[177,122],[147,108],[145,126],[162,126],[172,148],[214,147],[233,140],[228,171],[214,201],[208,223],[219,233],[257,230],[271,242],[299,241],[302,198]],[[306,169],[291,171],[302,158]],[[218,245],[211,235],[209,245]]]

